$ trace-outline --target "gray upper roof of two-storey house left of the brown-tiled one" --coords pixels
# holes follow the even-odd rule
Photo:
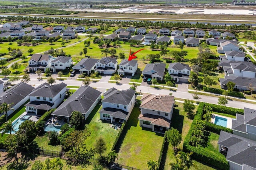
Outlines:
[[[135,94],[135,90],[129,88],[128,90],[113,90],[112,92],[105,95],[102,102],[106,103],[114,103],[114,104],[122,104],[129,105],[132,100],[134,100],[133,96]]]

